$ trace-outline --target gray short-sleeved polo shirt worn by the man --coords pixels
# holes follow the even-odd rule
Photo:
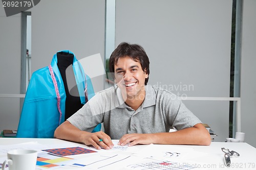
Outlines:
[[[145,86],[145,92],[144,102],[135,111],[124,103],[117,86],[110,87],[97,93],[68,121],[88,132],[103,122],[105,133],[112,139],[130,133],[169,132],[173,127],[180,130],[201,123],[172,92],[150,85]]]

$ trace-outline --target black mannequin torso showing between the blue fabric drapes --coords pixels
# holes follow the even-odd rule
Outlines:
[[[74,55],[70,53],[57,53],[57,66],[66,92],[65,120],[83,106],[80,101],[75,75],[72,68],[73,58]]]

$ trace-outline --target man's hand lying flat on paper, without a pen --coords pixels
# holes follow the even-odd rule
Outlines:
[[[118,145],[124,146],[129,143],[129,147],[135,144],[151,144],[153,143],[153,134],[125,134],[119,140]]]

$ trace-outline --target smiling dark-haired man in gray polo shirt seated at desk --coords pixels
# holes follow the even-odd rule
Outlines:
[[[111,149],[118,144],[209,145],[210,135],[201,121],[177,96],[147,85],[150,61],[137,44],[120,43],[110,57],[116,85],[96,94],[61,124],[56,138]],[[99,123],[104,132],[90,133]],[[178,131],[169,132],[175,127]],[[102,140],[101,140],[102,139]]]

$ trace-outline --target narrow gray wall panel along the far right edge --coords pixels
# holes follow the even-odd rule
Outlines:
[[[245,141],[256,147],[256,1],[246,0],[242,17],[241,131]]]

